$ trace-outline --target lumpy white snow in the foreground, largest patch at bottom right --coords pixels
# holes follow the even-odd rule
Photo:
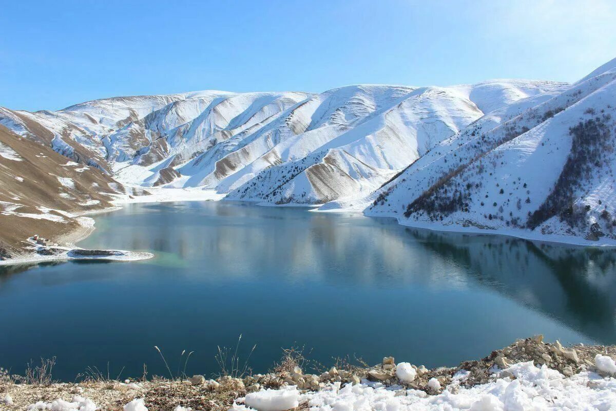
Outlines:
[[[611,369],[614,360],[602,357]],[[284,411],[298,402],[308,401],[312,411],[403,411],[403,410],[616,410],[616,379],[602,378],[594,372],[582,372],[570,378],[545,365],[533,362],[514,364],[506,370],[515,378],[500,378],[472,388],[460,386],[463,372],[436,396],[423,391],[386,387],[381,383],[339,383],[314,393],[301,394],[296,389],[265,390],[248,394],[245,404],[235,404],[233,411]],[[258,396],[258,397],[257,397]],[[240,399],[241,400],[241,399]],[[241,402],[241,401],[240,401]]]

